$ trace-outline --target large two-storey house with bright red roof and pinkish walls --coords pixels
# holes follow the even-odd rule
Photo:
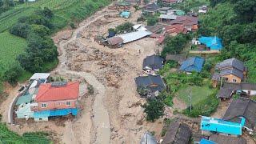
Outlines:
[[[54,82],[39,86],[32,110],[55,110],[78,107],[79,82]]]

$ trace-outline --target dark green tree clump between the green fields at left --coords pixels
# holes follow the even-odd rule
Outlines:
[[[31,73],[46,71],[43,66],[57,59],[57,47],[50,38],[54,30],[54,25],[51,23],[53,17],[54,13],[48,8],[36,10],[30,16],[19,18],[10,28],[10,34],[26,38],[28,45],[25,52],[17,57],[19,64],[14,63],[2,75],[5,81],[16,82],[22,70]]]

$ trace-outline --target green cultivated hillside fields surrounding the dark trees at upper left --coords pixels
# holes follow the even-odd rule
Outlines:
[[[47,7],[54,13],[54,18],[51,20],[54,25],[51,34],[54,34],[63,27],[69,26],[70,23],[80,22],[108,3],[108,0],[98,0],[97,2],[93,0],[38,0],[37,2],[16,3],[10,10],[0,13],[0,41],[5,42],[0,47],[0,64],[2,66],[0,75],[8,70],[9,66],[16,61],[17,55],[26,48],[26,40],[9,34],[10,28],[18,22],[19,18],[29,16],[34,14],[35,10]]]

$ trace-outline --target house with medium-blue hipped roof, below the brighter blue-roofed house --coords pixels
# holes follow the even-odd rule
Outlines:
[[[187,58],[186,61],[182,62],[182,66],[179,70],[186,71],[186,72],[201,72],[202,66],[205,62],[204,58],[201,57],[190,57]]]

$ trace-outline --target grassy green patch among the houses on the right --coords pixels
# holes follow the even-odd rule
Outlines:
[[[214,92],[214,90],[211,90],[208,86],[190,86],[178,90],[178,98],[182,99],[183,102],[186,102],[187,105],[190,104],[190,98],[188,96],[190,91],[192,95],[192,105],[198,104],[198,102],[208,98],[208,96]]]

